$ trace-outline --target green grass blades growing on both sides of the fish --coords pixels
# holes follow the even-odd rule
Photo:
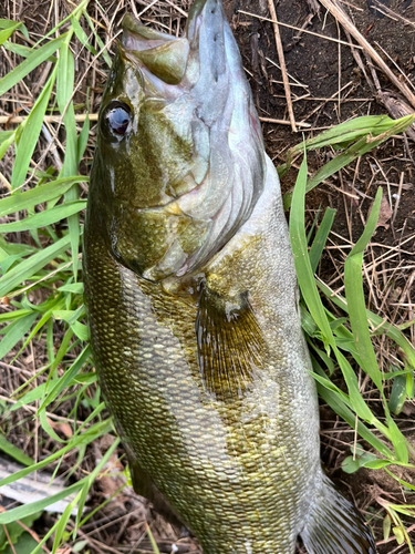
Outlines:
[[[15,155],[8,183],[10,191],[0,199],[0,216],[6,222],[0,225],[3,234],[0,238],[0,297],[4,305],[0,314],[0,322],[3,324],[0,358],[8,359],[11,366],[27,348],[33,349],[37,343],[42,343],[45,352],[44,363],[33,366],[31,377],[14,390],[11,399],[1,400],[4,433],[0,434],[0,450],[24,469],[1,481],[0,486],[44,468],[52,469],[55,475],[69,455],[74,460],[75,471],[93,441],[114,433],[101,401],[91,360],[80,271],[85,207],[82,184],[89,181],[84,155],[90,122],[87,102],[74,104],[74,42],[79,48],[87,49],[94,60],[100,57],[104,66],[110,64],[108,54],[87,13],[87,3],[86,0],[81,1],[72,13],[30,48],[12,41],[17,32],[29,39],[24,24],[0,20],[0,44],[22,60],[0,80],[0,96],[4,98],[41,64],[51,64],[46,82],[28,116],[15,129],[0,132],[0,158],[4,160],[11,147]],[[76,120],[79,112],[84,115],[81,127]],[[44,132],[45,115],[56,114],[61,116],[64,129],[64,138],[62,132],[59,135],[60,140],[64,140],[63,162],[59,167],[49,165],[41,170],[33,157],[39,157],[40,141],[48,137]],[[290,235],[313,376],[323,401],[356,433],[352,453],[344,460],[343,469],[349,472],[362,466],[372,471],[385,469],[407,493],[414,491],[414,486],[396,473],[396,468],[415,469],[411,463],[414,452],[396,424],[394,413],[400,412],[406,400],[414,398],[415,349],[405,330],[366,309],[362,271],[365,249],[377,222],[382,191],[377,191],[364,232],[345,259],[344,296],[334,294],[315,277],[334,211],[328,208],[321,220],[315,219],[312,232],[307,233],[304,207],[308,191],[392,135],[403,132],[414,120],[414,116],[398,121],[386,116],[354,119],[291,148],[286,164],[279,167],[283,176],[294,160],[303,156],[297,185],[284,196],[284,203],[287,207],[291,206]],[[334,147],[336,155],[308,177],[307,152],[328,146]],[[51,147],[49,142],[48,148]],[[3,177],[2,181],[7,179]],[[9,235],[11,240],[7,240],[7,234],[12,234]],[[396,351],[395,366],[388,371],[380,365],[374,349],[374,339],[381,335]],[[380,399],[377,404],[374,406],[363,394],[356,368],[373,383]],[[339,381],[338,369],[343,381]],[[388,398],[385,390],[391,390]],[[7,431],[20,424],[11,423],[13,414],[24,407],[34,407],[35,425],[40,425],[43,437],[48,437],[53,444],[53,452],[42,459],[37,448],[32,449],[35,455],[29,456],[7,439]],[[65,438],[56,432],[51,420],[53,413],[61,412],[61,420],[71,425],[71,433]],[[80,413],[83,419],[80,419]],[[34,427],[33,440],[39,438],[37,429]],[[359,442],[361,439],[364,448]],[[34,517],[56,500],[75,493],[62,516],[30,552],[40,552],[49,540],[52,553],[58,552],[63,543],[74,541],[76,532],[82,531],[92,515],[83,516],[91,488],[105,473],[105,464],[117,447],[118,440],[115,440],[90,473],[69,484],[54,497],[0,513],[0,525]],[[406,542],[413,553],[406,522],[414,517],[414,506],[392,503],[383,497],[378,504],[378,513],[373,515],[383,519],[385,540],[393,533],[396,542]],[[69,525],[74,507],[77,515]],[[157,552],[149,530],[148,535]]]

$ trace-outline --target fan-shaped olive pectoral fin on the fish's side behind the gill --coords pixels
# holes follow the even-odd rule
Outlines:
[[[241,398],[263,367],[266,343],[248,293],[224,298],[205,287],[196,337],[203,382],[218,400]]]

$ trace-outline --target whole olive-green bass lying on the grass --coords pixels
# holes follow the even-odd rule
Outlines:
[[[280,184],[220,0],[173,37],[123,20],[83,271],[134,489],[205,554],[374,554],[325,475]]]

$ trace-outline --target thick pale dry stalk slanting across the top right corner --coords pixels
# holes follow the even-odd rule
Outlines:
[[[336,6],[333,0],[320,0],[320,2],[344,27],[344,29],[350,32],[350,34],[359,42],[363,50],[369,53],[369,55],[378,65],[378,68],[390,78],[391,82],[401,91],[406,100],[411,102],[411,105],[415,107],[415,95],[411,92],[405,83],[402,83],[397,79],[395,73],[386,65],[376,50],[367,42],[363,34],[357,31],[357,29],[344,13],[344,11],[339,6]]]

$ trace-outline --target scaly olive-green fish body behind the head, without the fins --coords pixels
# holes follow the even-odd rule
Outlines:
[[[263,367],[235,398],[206,390],[191,293],[141,279],[105,253],[98,236],[86,246],[94,358],[105,394],[134,462],[206,554],[268,554],[277,544],[291,552],[321,480],[315,387],[299,315],[287,309],[297,304],[294,270],[286,225],[279,228],[273,217],[279,196],[272,196],[266,228],[262,218],[258,227],[246,225],[204,273],[215,293],[249,291],[267,342]]]

